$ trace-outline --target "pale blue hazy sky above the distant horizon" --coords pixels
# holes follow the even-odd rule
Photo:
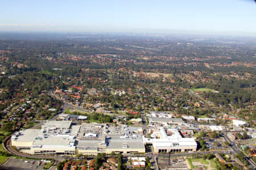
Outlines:
[[[8,0],[0,31],[151,32],[256,36],[253,0]]]

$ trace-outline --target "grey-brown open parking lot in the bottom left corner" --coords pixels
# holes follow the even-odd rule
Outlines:
[[[40,170],[43,169],[43,164],[38,164],[40,160],[24,160],[24,159],[10,159],[3,165],[0,165],[0,169],[21,169],[21,170]]]

